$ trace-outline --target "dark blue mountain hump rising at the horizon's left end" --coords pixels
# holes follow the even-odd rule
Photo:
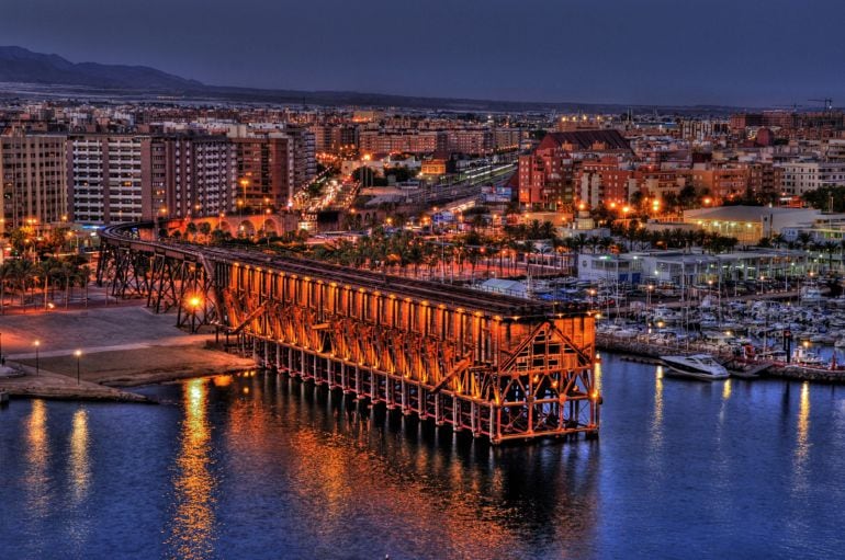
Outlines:
[[[196,80],[146,66],[74,64],[21,47],[0,47],[0,81],[161,91],[203,88]]]

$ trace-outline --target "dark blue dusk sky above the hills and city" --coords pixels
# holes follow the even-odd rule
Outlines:
[[[0,0],[0,43],[213,84],[845,105],[843,0]]]

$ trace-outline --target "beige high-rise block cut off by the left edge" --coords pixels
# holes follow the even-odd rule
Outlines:
[[[65,137],[0,137],[0,231],[67,219]]]

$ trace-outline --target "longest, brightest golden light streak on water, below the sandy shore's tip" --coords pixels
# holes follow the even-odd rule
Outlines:
[[[177,507],[168,544],[173,558],[202,559],[213,556],[214,487],[210,472],[211,430],[206,379],[189,381],[184,390],[185,418],[181,449],[173,481]]]

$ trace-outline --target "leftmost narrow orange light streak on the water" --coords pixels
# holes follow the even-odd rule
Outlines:
[[[47,405],[43,400],[32,401],[32,414],[26,422],[26,473],[24,484],[29,490],[27,510],[38,517],[49,513],[50,480],[47,473],[49,438],[47,437]]]

